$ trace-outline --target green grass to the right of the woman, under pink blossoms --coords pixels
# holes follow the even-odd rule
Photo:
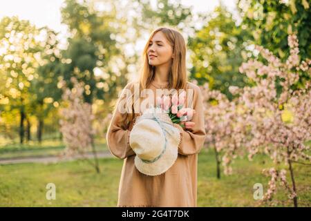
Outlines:
[[[272,161],[264,155],[257,155],[252,162],[246,158],[238,158],[232,164],[233,174],[221,174],[216,177],[216,163],[212,151],[206,149],[199,155],[198,164],[198,206],[269,206],[261,204],[261,200],[254,200],[253,186],[263,184],[263,193],[267,191],[270,177],[261,173],[263,169],[275,167]],[[281,169],[287,169],[281,166]],[[294,164],[294,175],[299,195],[299,206],[311,206],[311,168],[301,164]],[[287,179],[291,186],[290,173]],[[288,200],[288,193],[282,186],[278,186],[273,206],[292,206]]]

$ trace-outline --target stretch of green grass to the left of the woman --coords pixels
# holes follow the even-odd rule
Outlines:
[[[114,206],[121,160],[100,160],[101,173],[82,160],[0,166],[0,206]],[[46,200],[46,184],[57,200]]]

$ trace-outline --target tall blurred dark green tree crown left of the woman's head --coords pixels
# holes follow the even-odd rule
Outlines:
[[[100,15],[85,1],[67,0],[62,8],[62,21],[72,37],[68,39],[68,48],[62,51],[62,57],[68,62],[62,62],[61,72],[68,85],[70,77],[84,82],[84,98],[88,103],[93,103],[94,96],[104,99],[104,90],[96,84],[105,81],[95,77],[94,68],[104,68],[111,57],[120,53],[115,47],[115,39],[111,38],[117,30],[109,26],[114,16],[113,12]],[[105,92],[109,93],[109,90]]]

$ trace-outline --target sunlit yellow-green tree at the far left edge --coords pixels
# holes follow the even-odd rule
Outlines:
[[[18,17],[0,21],[0,93],[8,99],[6,111],[19,110],[19,142],[23,143],[24,121],[30,108],[29,88],[39,77],[36,68],[41,51],[39,29]],[[29,133],[28,133],[29,134]]]

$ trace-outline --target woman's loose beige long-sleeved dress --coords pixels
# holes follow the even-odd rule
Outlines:
[[[135,82],[126,85],[127,89],[133,89]],[[149,87],[156,95],[156,86]],[[124,159],[117,206],[196,206],[197,205],[197,166],[198,152],[205,140],[205,121],[202,104],[202,93],[196,84],[187,82],[187,89],[193,89],[192,108],[196,110],[192,122],[195,126],[191,129],[183,129],[174,124],[180,130],[181,142],[178,146],[178,158],[171,168],[161,175],[149,176],[140,173],[134,164],[135,152],[129,145],[129,135],[133,123],[124,130],[117,124],[122,117],[115,109],[106,141],[109,149],[115,157]],[[158,89],[159,90],[159,89]],[[154,96],[156,106],[156,96]],[[187,104],[186,106],[190,106]],[[141,114],[141,113],[140,113]],[[140,115],[138,114],[138,115]]]

